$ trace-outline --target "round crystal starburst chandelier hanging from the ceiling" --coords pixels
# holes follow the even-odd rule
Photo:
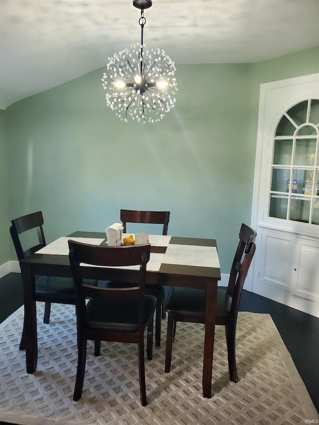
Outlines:
[[[164,112],[174,106],[177,90],[174,62],[159,48],[144,51],[143,29],[146,23],[144,9],[152,6],[152,0],[133,0],[133,5],[141,9],[141,43],[121,50],[109,58],[107,73],[103,73],[103,87],[107,105],[125,122],[132,120],[157,122]]]

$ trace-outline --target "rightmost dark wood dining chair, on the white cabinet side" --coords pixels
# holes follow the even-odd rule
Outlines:
[[[228,367],[230,379],[238,382],[236,366],[236,323],[242,288],[255,254],[254,240],[257,234],[245,224],[241,225],[239,243],[230,271],[227,290],[217,289],[215,323],[225,326]],[[171,364],[172,343],[176,332],[176,322],[205,323],[206,291],[204,289],[171,287],[165,309],[167,318],[167,338],[165,355],[165,372]]]

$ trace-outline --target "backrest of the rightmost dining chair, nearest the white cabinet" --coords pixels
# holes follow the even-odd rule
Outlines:
[[[238,283],[238,275],[242,268],[243,255],[244,253],[249,254],[251,252],[252,243],[255,240],[256,236],[257,236],[257,233],[254,229],[242,223],[240,231],[239,231],[239,243],[238,243],[233,264],[231,267],[229,282],[227,287],[227,292],[232,297],[234,296],[235,286]],[[253,251],[255,252],[255,250]],[[246,263],[247,261],[248,260],[246,260]],[[247,272],[248,272],[248,269],[246,271],[246,275],[247,275]]]

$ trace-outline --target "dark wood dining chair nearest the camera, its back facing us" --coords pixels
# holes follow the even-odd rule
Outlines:
[[[87,340],[95,341],[95,355],[100,354],[102,341],[138,344],[140,395],[146,406],[144,331],[147,328],[147,357],[152,359],[153,320],[156,298],[145,295],[146,265],[150,260],[151,246],[107,247],[69,241],[69,259],[76,293],[76,318],[78,335],[78,367],[73,400],[81,398],[84,382]],[[136,266],[132,287],[109,288],[83,283],[80,263],[93,266]],[[114,269],[112,270],[114,278]],[[106,269],[106,275],[110,269]],[[119,277],[121,277],[121,272]],[[86,305],[86,298],[90,300]]]

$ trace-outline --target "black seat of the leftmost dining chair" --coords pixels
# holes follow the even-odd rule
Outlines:
[[[74,298],[75,290],[73,280],[70,278],[58,278],[55,276],[42,276],[35,282],[37,296]]]

